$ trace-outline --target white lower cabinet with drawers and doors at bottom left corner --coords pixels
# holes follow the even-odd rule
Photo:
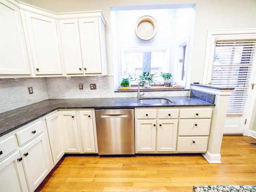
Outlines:
[[[54,166],[44,118],[2,136],[0,150],[1,192],[32,192]]]

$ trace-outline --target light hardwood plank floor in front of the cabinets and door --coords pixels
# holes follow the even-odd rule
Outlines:
[[[256,185],[256,147],[224,136],[221,164],[201,155],[64,156],[37,192],[192,192],[194,185]]]

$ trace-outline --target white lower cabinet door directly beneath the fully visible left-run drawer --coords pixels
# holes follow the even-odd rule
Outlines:
[[[42,133],[20,149],[30,191],[34,191],[51,170],[45,137]]]

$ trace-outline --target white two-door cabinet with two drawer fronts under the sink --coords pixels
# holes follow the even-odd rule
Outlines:
[[[178,110],[139,108],[135,118],[136,153],[176,151]]]

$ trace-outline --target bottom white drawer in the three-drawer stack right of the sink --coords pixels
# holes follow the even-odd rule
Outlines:
[[[206,152],[208,136],[178,137],[177,152]]]

